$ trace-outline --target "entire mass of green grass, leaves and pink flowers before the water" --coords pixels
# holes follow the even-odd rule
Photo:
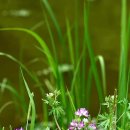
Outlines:
[[[72,36],[71,25],[69,19],[66,18],[66,38],[63,36],[60,25],[58,24],[56,17],[51,9],[47,0],[42,0],[42,3],[47,9],[47,12],[53,21],[53,24],[58,33],[59,42],[63,51],[69,50],[69,54],[65,54],[66,64],[61,64],[58,53],[56,51],[56,43],[53,37],[53,32],[48,22],[48,18],[45,15],[46,25],[51,39],[51,45],[53,51],[49,49],[47,43],[41,38],[36,32],[25,29],[25,28],[1,28],[0,31],[18,31],[23,32],[37,41],[36,48],[39,52],[43,53],[47,60],[47,74],[49,75],[45,81],[46,88],[43,87],[42,82],[40,82],[39,77],[32,73],[20,60],[15,57],[0,52],[0,56],[7,57],[13,62],[20,66],[20,75],[24,83],[24,88],[29,97],[29,105],[24,109],[24,115],[27,116],[26,123],[23,129],[35,130],[37,129],[36,123],[36,106],[35,106],[35,92],[31,92],[31,87],[28,85],[23,75],[25,71],[29,77],[30,81],[35,82],[40,85],[38,89],[42,97],[44,98],[43,104],[43,121],[38,123],[39,129],[58,129],[58,130],[77,130],[77,129],[88,129],[88,130],[129,130],[130,129],[130,104],[128,99],[128,86],[129,86],[129,73],[127,73],[128,68],[128,41],[129,41],[129,30],[127,30],[127,18],[126,18],[126,2],[127,0],[122,0],[122,10],[121,10],[121,56],[120,56],[120,73],[119,73],[119,86],[115,90],[113,96],[107,96],[106,88],[106,76],[105,76],[105,62],[103,56],[95,56],[93,47],[91,44],[91,39],[89,36],[89,11],[90,4],[86,1],[84,2],[84,37],[80,43],[78,35],[78,16],[76,16],[75,38],[74,42]],[[77,5],[76,5],[77,7]],[[129,23],[129,22],[128,22]],[[67,39],[67,40],[66,40]],[[68,41],[68,44],[65,42]],[[81,50],[80,50],[80,48]],[[90,66],[87,70],[86,68],[86,57],[87,54],[90,58]],[[69,63],[69,62],[70,63]],[[98,71],[97,62],[100,63],[101,77]],[[69,79],[69,86],[66,86],[66,80],[64,78],[64,71],[71,73],[71,78]],[[86,72],[88,73],[86,74]],[[128,77],[128,78],[127,78]],[[92,93],[92,82],[95,81],[95,90],[97,90],[99,105],[102,109],[100,110],[98,116],[94,119],[90,116],[88,110],[90,109],[90,103],[92,99],[90,97]],[[2,83],[0,84],[2,90]],[[20,85],[21,86],[21,85]],[[22,85],[23,86],[23,85]],[[22,106],[25,105],[24,98],[21,98],[18,92],[9,85],[4,88],[9,90],[15,98],[18,98]],[[49,92],[49,93],[48,93]],[[48,93],[48,94],[46,94]],[[25,102],[24,102],[25,101]],[[104,103],[105,102],[105,103]],[[8,107],[11,102],[5,103],[3,107],[0,108],[0,114],[3,109]],[[48,108],[50,109],[48,117]],[[88,110],[86,109],[88,108]],[[77,111],[76,111],[77,110]],[[51,118],[54,119],[51,120]],[[31,119],[29,124],[28,120]],[[47,125],[45,125],[47,122]],[[55,123],[54,123],[55,122]],[[49,123],[51,125],[49,125]],[[55,125],[56,124],[56,125]],[[4,127],[1,127],[4,130]],[[12,129],[12,127],[10,127]]]

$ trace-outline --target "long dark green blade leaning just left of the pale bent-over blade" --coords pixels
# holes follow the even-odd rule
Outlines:
[[[92,66],[92,72],[93,72],[93,75],[94,75],[95,83],[96,83],[96,89],[97,89],[97,92],[98,92],[99,102],[102,103],[104,101],[104,95],[103,95],[103,90],[102,90],[100,78],[99,78],[97,67],[96,67],[94,52],[93,52],[93,49],[92,49],[92,45],[91,45],[91,41],[90,41],[90,37],[89,37],[89,33],[88,33],[88,10],[89,9],[87,9],[87,7],[85,5],[84,6],[85,42],[86,42],[89,57],[90,57],[90,62],[91,62],[91,66]]]

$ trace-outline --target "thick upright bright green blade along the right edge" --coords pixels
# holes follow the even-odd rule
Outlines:
[[[123,100],[127,96],[127,68],[128,68],[128,39],[129,39],[129,21],[127,30],[127,0],[121,1],[121,51],[120,51],[120,67],[119,67],[119,85],[118,85],[118,98]],[[124,110],[118,107],[118,117]],[[122,129],[125,129],[126,116],[123,115],[121,122]]]

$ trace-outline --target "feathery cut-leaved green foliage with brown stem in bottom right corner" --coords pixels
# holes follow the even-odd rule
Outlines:
[[[117,100],[117,95],[108,96],[105,98],[105,105],[107,107],[108,112],[98,115],[98,127],[99,130],[129,130],[130,129],[130,105],[127,99],[124,100]],[[122,108],[121,116],[117,116],[117,105]],[[125,109],[125,106],[127,108]],[[126,115],[126,124],[124,128],[118,126],[118,122],[122,120],[122,118]]]

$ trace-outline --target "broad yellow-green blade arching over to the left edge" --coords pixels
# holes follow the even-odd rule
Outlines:
[[[48,60],[49,65],[50,65],[50,67],[52,69],[53,75],[57,80],[57,87],[58,87],[58,89],[61,89],[62,103],[64,104],[64,106],[66,106],[65,88],[64,88],[64,84],[63,84],[62,75],[58,71],[58,66],[57,66],[54,58],[52,57],[52,54],[51,54],[50,50],[48,49],[45,41],[37,33],[33,32],[33,31],[29,30],[29,29],[25,29],[25,28],[1,28],[0,31],[20,31],[20,32],[25,32],[25,33],[31,35],[40,44],[40,46],[42,47],[42,52],[47,57],[47,60]]]

